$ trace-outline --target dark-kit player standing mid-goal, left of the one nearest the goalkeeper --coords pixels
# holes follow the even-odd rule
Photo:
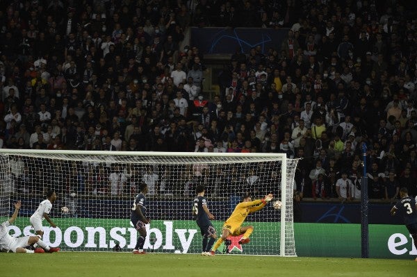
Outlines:
[[[136,196],[135,201],[133,202],[133,207],[131,210],[131,221],[133,226],[138,230],[139,237],[138,242],[136,242],[135,249],[133,249],[133,254],[146,254],[143,251],[143,244],[145,244],[146,238],[146,228],[145,225],[149,224],[150,220],[145,217],[146,210],[146,197],[145,195],[148,192],[147,184],[140,184],[140,194]]]

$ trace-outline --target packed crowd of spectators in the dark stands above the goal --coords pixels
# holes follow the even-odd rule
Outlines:
[[[296,189],[416,196],[416,10],[407,1],[1,2],[0,144],[10,149],[279,152]],[[208,99],[190,26],[286,28],[236,53]]]

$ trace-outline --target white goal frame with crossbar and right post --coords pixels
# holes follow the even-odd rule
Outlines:
[[[288,199],[288,193],[291,193],[291,199],[293,192],[287,192],[286,183],[287,183],[287,158],[286,153],[211,153],[211,152],[153,152],[153,151],[80,151],[80,150],[35,150],[35,149],[0,149],[0,155],[16,155],[16,156],[38,156],[38,155],[46,155],[48,158],[57,158],[63,159],[63,156],[74,156],[74,155],[82,155],[82,156],[148,156],[148,157],[213,157],[213,158],[221,158],[221,157],[235,157],[235,158],[276,158],[277,161],[281,162],[281,214],[280,214],[280,242],[279,242],[279,256],[281,257],[296,257],[297,254],[295,252],[295,245],[294,245],[294,252],[291,254],[286,255],[285,246],[288,240],[286,237],[286,228],[287,226],[287,212],[286,212],[286,205]],[[288,160],[296,160],[296,159],[288,159]],[[100,160],[102,162],[102,160]],[[6,192],[6,199],[9,199],[9,210],[10,210],[10,196],[12,192],[8,190]],[[285,197],[284,197],[285,196]],[[293,218],[289,224],[293,224]],[[294,233],[294,231],[293,231]],[[293,236],[293,234],[292,234]],[[295,244],[295,238],[292,237],[293,243]]]

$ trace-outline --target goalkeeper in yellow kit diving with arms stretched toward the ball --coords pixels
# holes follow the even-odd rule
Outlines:
[[[263,199],[258,199],[252,201],[251,196],[246,194],[243,196],[243,202],[238,203],[236,208],[231,213],[230,217],[224,222],[222,227],[222,236],[215,242],[213,249],[211,249],[211,255],[214,255],[215,251],[220,247],[222,242],[224,242],[227,237],[234,236],[237,237],[243,234],[243,237],[240,239],[239,244],[247,244],[250,242],[249,236],[252,234],[254,227],[253,226],[243,226],[243,221],[245,221],[247,215],[257,210],[261,210],[265,207],[266,203],[271,201],[274,198],[272,194],[268,194]]]

